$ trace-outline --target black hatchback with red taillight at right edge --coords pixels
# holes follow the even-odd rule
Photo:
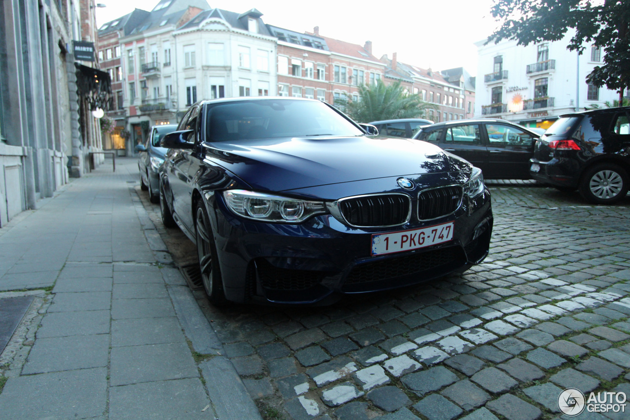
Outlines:
[[[536,142],[532,178],[587,201],[612,204],[626,196],[630,174],[630,107],[561,115]]]

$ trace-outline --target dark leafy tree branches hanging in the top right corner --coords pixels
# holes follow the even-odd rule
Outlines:
[[[491,14],[501,27],[488,42],[558,41],[574,29],[567,49],[582,54],[585,43],[604,49],[604,65],[596,66],[587,82],[618,90],[622,102],[630,87],[630,0],[495,0]]]

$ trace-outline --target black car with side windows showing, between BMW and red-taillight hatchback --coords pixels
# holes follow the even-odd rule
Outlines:
[[[487,179],[529,179],[529,160],[539,134],[499,119],[426,125],[413,139],[433,143],[481,168]]]

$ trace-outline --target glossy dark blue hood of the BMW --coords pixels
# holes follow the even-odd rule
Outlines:
[[[268,191],[471,168],[433,144],[401,138],[291,137],[204,147],[207,158],[253,189]]]

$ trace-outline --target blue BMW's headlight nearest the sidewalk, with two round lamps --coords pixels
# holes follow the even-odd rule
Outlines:
[[[321,201],[305,201],[246,190],[223,192],[227,207],[247,219],[275,223],[301,223],[314,214],[327,213]]]

